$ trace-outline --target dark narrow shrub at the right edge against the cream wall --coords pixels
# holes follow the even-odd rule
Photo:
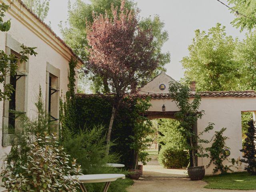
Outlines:
[[[240,161],[246,163],[244,168],[251,175],[256,175],[256,128],[254,126],[254,121],[250,120],[248,122],[248,132],[246,133],[247,138],[244,142],[244,148],[240,150],[243,152],[243,159]]]

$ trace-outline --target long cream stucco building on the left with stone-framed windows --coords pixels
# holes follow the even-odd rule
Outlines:
[[[35,51],[38,53],[37,56],[29,56],[26,64],[19,64],[15,79],[15,101],[12,101],[15,106],[14,110],[32,117],[35,114],[34,103],[39,94],[39,86],[41,86],[46,111],[49,111],[52,118],[58,122],[59,97],[61,92],[65,94],[68,89],[68,63],[71,57],[77,59],[76,69],[78,69],[82,62],[20,0],[0,0],[0,4],[2,3],[10,6],[4,20],[11,19],[11,28],[8,32],[0,32],[0,50],[18,57],[21,51],[20,46],[24,44],[28,47],[37,47]],[[13,80],[6,77],[6,82],[10,83],[10,81]],[[0,86],[2,89],[2,85]],[[11,122],[16,129],[15,120],[11,120],[9,114],[12,104],[8,100],[0,102],[0,158],[11,148],[10,138],[12,138],[13,132],[10,132],[8,124]],[[0,163],[0,167],[1,165],[2,163]]]

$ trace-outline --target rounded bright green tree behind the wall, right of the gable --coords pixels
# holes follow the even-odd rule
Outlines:
[[[227,36],[226,27],[217,23],[206,33],[196,30],[188,46],[189,56],[182,59],[185,80],[196,81],[197,90],[236,90],[242,77],[242,63],[234,58],[238,39]]]

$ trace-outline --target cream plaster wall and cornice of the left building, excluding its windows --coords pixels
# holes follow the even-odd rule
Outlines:
[[[68,90],[68,62],[74,56],[56,36],[40,23],[32,14],[20,5],[18,0],[0,0],[0,3],[10,5],[4,20],[11,19],[11,29],[8,32],[0,32],[0,50],[6,48],[6,34],[17,42],[29,47],[37,47],[37,56],[29,57],[28,78],[28,113],[29,117],[35,115],[36,97],[39,93],[39,85],[42,87],[42,96],[46,96],[46,63],[49,62],[55,68],[60,69],[60,91],[65,94]],[[0,85],[1,86],[1,85]],[[1,86],[2,87],[2,86]],[[0,88],[1,88],[0,87]],[[2,115],[3,101],[0,102],[0,143],[2,144]],[[0,146],[0,158],[10,151],[10,146]],[[0,160],[0,167],[2,160]]]

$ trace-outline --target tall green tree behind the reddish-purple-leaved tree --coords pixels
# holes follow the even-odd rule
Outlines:
[[[88,52],[86,51],[88,46],[87,34],[86,34],[86,22],[92,23],[94,14],[108,14],[112,17],[111,5],[120,8],[121,0],[90,0],[90,3],[83,2],[82,0],[76,0],[72,6],[70,1],[68,5],[68,20],[66,26],[60,24],[61,33],[64,41],[70,46],[76,55],[80,56],[84,62],[88,62]],[[136,10],[136,4],[132,0],[126,0],[125,8],[128,10]],[[120,10],[118,9],[118,12]],[[162,46],[164,42],[168,40],[168,33],[164,30],[164,22],[162,22],[159,16],[153,18],[143,18],[139,22],[139,26],[143,30],[152,30],[154,35],[155,55],[159,57],[159,67],[148,77],[147,80],[141,81],[138,86],[141,86],[146,81],[151,80],[156,76],[163,66],[170,62],[170,54],[162,53]],[[85,71],[88,72],[88,71]],[[95,76],[89,73],[90,79],[93,84],[91,90],[94,92],[110,92],[107,80],[101,76]]]

